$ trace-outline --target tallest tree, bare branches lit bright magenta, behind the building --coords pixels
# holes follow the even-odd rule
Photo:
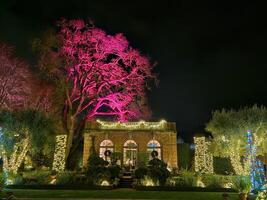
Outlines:
[[[39,48],[41,74],[64,95],[62,119],[70,159],[86,120],[148,118],[145,92],[155,75],[149,59],[122,34],[108,35],[83,20],[61,20],[58,26],[56,35],[49,32],[34,46]]]

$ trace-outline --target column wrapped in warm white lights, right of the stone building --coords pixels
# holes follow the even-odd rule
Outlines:
[[[213,173],[213,156],[209,153],[210,142],[205,137],[194,137],[195,143],[195,171],[200,173]]]

